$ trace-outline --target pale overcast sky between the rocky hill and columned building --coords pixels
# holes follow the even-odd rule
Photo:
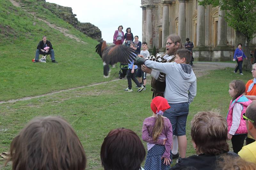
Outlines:
[[[46,2],[71,7],[80,22],[89,22],[99,27],[103,40],[113,42],[119,25],[123,32],[131,27],[133,36],[142,39],[142,9],[140,0],[46,0]]]

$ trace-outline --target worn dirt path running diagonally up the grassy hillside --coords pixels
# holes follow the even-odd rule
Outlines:
[[[14,1],[14,0],[9,0],[14,6],[16,6],[16,7],[21,7],[21,3],[20,2],[17,2],[17,1]],[[21,7],[22,8],[22,7]],[[26,11],[24,8],[22,8],[24,11]],[[28,11],[26,11],[26,12],[28,12]],[[71,38],[71,39],[75,39],[77,42],[80,42],[80,43],[83,43],[83,44],[88,44],[87,42],[84,42],[84,41],[82,41],[81,39],[79,39],[79,38],[77,38],[76,36],[74,36],[74,35],[72,35],[72,34],[69,34],[68,33],[68,29],[66,29],[66,28],[61,28],[61,27],[59,27],[59,26],[57,26],[57,25],[54,25],[54,24],[51,24],[51,23],[49,23],[48,21],[45,21],[45,20],[43,20],[43,19],[41,19],[41,18],[37,18],[36,17],[36,13],[33,13],[33,12],[28,12],[29,14],[31,14],[31,15],[33,15],[34,16],[34,18],[36,18],[36,19],[38,19],[38,20],[40,20],[40,21],[43,21],[45,24],[47,24],[49,27],[51,27],[51,28],[54,28],[55,30],[58,30],[58,31],[60,31],[61,33],[63,33],[66,37],[69,37],[69,38]]]

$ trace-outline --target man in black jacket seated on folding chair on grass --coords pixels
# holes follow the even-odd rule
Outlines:
[[[48,49],[47,49],[48,48]],[[54,58],[54,51],[52,48],[52,44],[50,41],[46,40],[46,36],[43,36],[43,40],[40,41],[37,45],[37,49],[36,49],[36,58],[34,63],[39,62],[39,54],[43,54],[43,55],[51,55],[51,59],[53,63],[57,63],[57,61]]]

